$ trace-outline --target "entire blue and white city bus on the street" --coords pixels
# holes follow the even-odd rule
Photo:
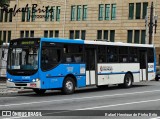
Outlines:
[[[60,89],[133,82],[155,77],[155,48],[147,44],[84,41],[61,38],[19,38],[10,41],[7,86],[37,94]]]

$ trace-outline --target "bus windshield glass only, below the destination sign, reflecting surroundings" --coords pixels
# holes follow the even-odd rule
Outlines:
[[[38,69],[38,48],[10,48],[8,69],[11,70],[37,70]]]

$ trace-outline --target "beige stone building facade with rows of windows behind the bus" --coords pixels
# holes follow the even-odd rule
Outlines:
[[[11,0],[10,6],[0,11],[0,44],[19,37],[149,43],[151,2]],[[153,16],[158,16],[158,20],[156,34],[153,27],[152,43],[156,46],[157,64],[160,64],[160,2],[153,0],[153,6]]]

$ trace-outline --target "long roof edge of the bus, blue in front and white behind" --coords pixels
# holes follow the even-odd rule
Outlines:
[[[41,41],[52,41],[57,43],[73,43],[73,44],[91,44],[91,45],[111,45],[111,46],[130,46],[130,47],[154,47],[153,44],[134,44],[123,42],[105,42],[105,41],[92,41],[82,39],[65,39],[65,38],[18,38],[18,39],[40,39]],[[18,40],[14,39],[14,40]]]

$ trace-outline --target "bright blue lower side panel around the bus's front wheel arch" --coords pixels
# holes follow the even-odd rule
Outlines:
[[[86,86],[85,64],[60,64],[49,71],[40,70],[41,88],[62,88],[67,75],[73,75],[77,80],[77,87]]]

